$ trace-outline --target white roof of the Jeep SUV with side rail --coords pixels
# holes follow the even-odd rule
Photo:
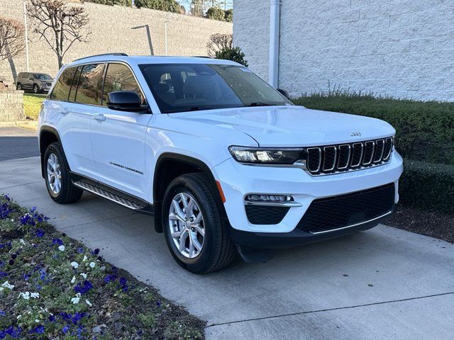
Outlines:
[[[166,56],[128,56],[128,55],[95,55],[86,57],[67,64],[66,67],[90,62],[126,62],[127,64],[231,64],[240,65],[231,60],[211,59],[209,57],[166,57]]]

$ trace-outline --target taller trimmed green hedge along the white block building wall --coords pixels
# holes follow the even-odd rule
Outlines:
[[[377,98],[338,90],[302,96],[293,102],[385,120],[397,130],[396,147],[405,159],[454,165],[454,103]]]

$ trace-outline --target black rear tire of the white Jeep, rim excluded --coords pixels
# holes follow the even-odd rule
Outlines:
[[[61,175],[60,179],[61,186],[60,191],[58,191],[57,193],[52,191],[47,170],[48,159],[49,157],[51,157],[52,154],[54,154],[57,157],[58,164],[60,164],[59,168]],[[45,150],[43,162],[45,185],[48,188],[48,193],[52,200],[55,200],[55,202],[60,204],[77,202],[82,197],[82,193],[84,193],[84,191],[72,185],[65,154],[63,153],[62,145],[59,142],[52,143],[51,145],[48,146],[48,149]]]

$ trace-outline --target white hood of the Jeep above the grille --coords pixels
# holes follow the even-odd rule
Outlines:
[[[197,122],[244,132],[260,147],[342,144],[389,137],[395,133],[394,128],[382,120],[302,106],[261,106],[171,116],[188,120],[189,124]]]

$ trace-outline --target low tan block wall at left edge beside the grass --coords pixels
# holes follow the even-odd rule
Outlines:
[[[23,91],[4,87],[0,83],[0,122],[26,120],[23,111]]]

